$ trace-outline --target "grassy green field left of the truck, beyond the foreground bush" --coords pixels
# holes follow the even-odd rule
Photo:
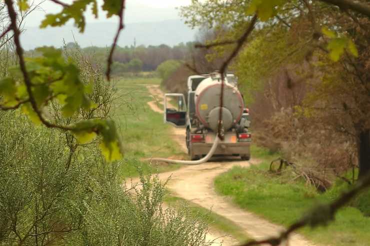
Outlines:
[[[186,158],[179,145],[171,139],[170,126],[163,123],[163,115],[153,112],[147,105],[153,99],[145,85],[159,83],[159,78],[125,78],[116,83],[118,94],[124,95],[115,109],[124,151],[124,177],[137,176],[137,167],[143,173],[165,172],[180,167],[175,164],[151,166],[142,161],[145,158]]]

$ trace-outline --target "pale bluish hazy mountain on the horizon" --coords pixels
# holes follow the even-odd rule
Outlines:
[[[33,49],[38,46],[60,47],[62,39],[66,42],[73,41],[73,35],[81,47],[109,46],[117,30],[117,23],[96,22],[87,23],[85,32],[79,33],[73,26],[27,27],[21,36],[24,49]],[[136,45],[175,45],[180,42],[193,41],[195,30],[185,25],[181,20],[164,20],[159,22],[127,23],[119,37],[118,45],[131,45],[136,39]]]

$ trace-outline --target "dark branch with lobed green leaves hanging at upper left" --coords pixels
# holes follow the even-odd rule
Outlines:
[[[116,1],[106,1],[103,5],[103,9],[108,10],[110,15],[115,13],[114,4],[112,5],[114,2]],[[21,6],[20,9],[28,7],[24,3],[22,5],[21,1],[18,3]],[[96,2],[94,1],[94,3]],[[23,83],[17,81],[16,73],[11,77],[0,80],[0,95],[2,96],[0,109],[10,110],[22,107],[22,111],[28,114],[34,122],[42,123],[48,128],[70,131],[81,143],[92,141],[96,135],[100,135],[102,137],[100,148],[105,158],[108,161],[120,159],[122,156],[121,143],[113,121],[94,119],[80,121],[74,125],[61,125],[52,123],[43,117],[40,107],[46,106],[49,101],[55,98],[63,105],[61,110],[66,117],[72,117],[80,108],[88,110],[93,108],[94,105],[85,95],[88,92],[88,87],[80,80],[79,69],[72,61],[65,61],[60,50],[43,47],[38,48],[38,51],[43,54],[41,57],[24,57],[20,44],[20,30],[17,26],[17,12],[13,7],[14,2],[13,0],[5,0],[5,4],[8,9],[10,23],[1,36],[4,36],[10,30],[13,32],[15,53],[19,60],[19,70]],[[70,8],[73,7],[73,4],[75,2],[64,7],[63,11],[72,11]],[[123,11],[123,5],[121,9]],[[72,13],[74,12],[72,11]],[[64,16],[63,13],[59,14]],[[69,15],[61,22],[57,22],[56,25],[65,23],[68,18],[72,17],[79,20],[78,16]],[[58,18],[58,14],[48,15],[42,25],[53,25],[55,23],[50,22],[50,19]],[[78,22],[78,24],[83,29],[84,21]]]

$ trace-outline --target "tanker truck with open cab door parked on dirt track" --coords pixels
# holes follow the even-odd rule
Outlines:
[[[187,100],[180,93],[164,95],[164,123],[186,129],[185,141],[190,159],[198,160],[211,149],[222,110],[224,138],[219,140],[213,156],[239,156],[242,160],[249,160],[249,113],[234,74],[224,76],[222,109],[219,73],[192,75],[187,79],[187,89]]]

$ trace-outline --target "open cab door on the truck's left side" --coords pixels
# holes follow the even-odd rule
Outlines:
[[[164,94],[164,123],[186,127],[186,102],[183,94]]]

